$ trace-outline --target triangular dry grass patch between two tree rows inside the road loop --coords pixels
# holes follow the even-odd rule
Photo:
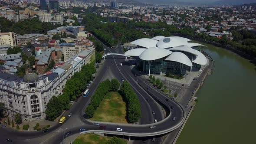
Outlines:
[[[118,92],[108,92],[91,120],[128,124],[126,120],[126,106],[121,95]]]

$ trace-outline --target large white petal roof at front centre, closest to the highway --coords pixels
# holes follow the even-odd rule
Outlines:
[[[159,49],[157,47],[151,47],[144,50],[144,52],[141,53],[140,59],[147,60],[147,61],[156,60],[156,59],[164,58],[165,56],[168,56],[171,53],[172,52],[167,49]]]

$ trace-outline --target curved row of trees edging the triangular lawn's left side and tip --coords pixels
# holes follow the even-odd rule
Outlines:
[[[94,95],[92,95],[91,103],[85,109],[85,114],[89,118],[92,118],[106,93],[109,91],[118,91],[119,87],[120,83],[117,79],[112,79],[111,81],[109,79],[106,79],[105,81],[101,82],[98,85]]]

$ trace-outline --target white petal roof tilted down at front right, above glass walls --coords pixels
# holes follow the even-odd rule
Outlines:
[[[180,62],[187,66],[192,66],[192,62],[190,59],[182,52],[173,52],[170,56],[168,56],[165,61],[174,61]]]

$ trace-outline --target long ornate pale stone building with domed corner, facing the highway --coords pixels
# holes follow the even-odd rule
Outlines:
[[[62,94],[74,69],[79,72],[83,65],[94,60],[95,49],[90,48],[74,56],[70,63],[62,63],[51,73],[40,77],[34,73],[27,73],[23,78],[0,73],[0,102],[5,104],[9,115],[19,113],[23,121],[44,119],[47,103],[53,96]]]

